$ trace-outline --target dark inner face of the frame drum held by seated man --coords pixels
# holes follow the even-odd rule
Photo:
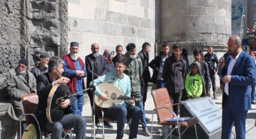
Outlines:
[[[52,95],[52,100],[50,104],[50,117],[52,122],[59,122],[61,120],[62,115],[64,113],[64,109],[60,107],[59,98],[64,97],[66,95],[66,87],[64,85],[59,85],[54,94]]]

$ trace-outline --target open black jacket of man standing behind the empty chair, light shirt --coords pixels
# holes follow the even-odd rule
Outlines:
[[[156,58],[154,58],[149,63],[149,67],[153,69],[153,75],[152,75],[152,78],[151,78],[151,82],[155,83],[155,84],[156,84],[156,81],[157,81],[158,72],[160,71],[159,67],[160,67],[161,56],[162,55],[163,55],[163,52],[160,52],[159,55],[156,56]],[[168,54],[168,56],[170,57],[171,55]]]

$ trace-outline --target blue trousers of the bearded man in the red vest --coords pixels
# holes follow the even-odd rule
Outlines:
[[[83,92],[73,95],[74,102],[70,109],[72,114],[81,115],[83,110]]]

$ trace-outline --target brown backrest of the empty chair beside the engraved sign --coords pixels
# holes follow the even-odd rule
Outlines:
[[[159,88],[156,90],[152,90],[151,95],[154,100],[155,108],[169,107],[171,108],[171,110],[173,110],[170,96],[166,88]],[[156,114],[157,114],[157,120],[159,124],[165,122],[167,118],[174,117],[173,113],[166,108],[157,109]]]

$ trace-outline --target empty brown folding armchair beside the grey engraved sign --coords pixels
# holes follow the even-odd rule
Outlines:
[[[181,139],[182,134],[191,125],[195,126],[195,134],[196,134],[196,138],[198,139],[197,129],[196,129],[196,124],[198,123],[198,120],[195,119],[194,117],[190,117],[189,120],[186,120],[186,121],[183,121],[183,122],[178,122],[178,119],[177,119],[178,117],[175,114],[175,112],[173,112],[173,105],[171,104],[169,93],[168,93],[166,88],[159,88],[159,89],[153,90],[151,95],[152,95],[152,98],[153,98],[154,104],[155,104],[155,108],[153,109],[153,112],[152,112],[151,139],[152,139],[152,130],[153,130],[154,111],[156,111],[157,120],[158,120],[158,123],[160,125],[167,125],[167,126],[177,125],[178,133],[179,133],[179,138],[178,139]],[[178,104],[182,104],[182,103],[177,103],[175,105],[178,105]],[[185,107],[186,107],[186,105],[185,105]],[[192,115],[194,115],[188,107],[186,107],[186,108],[189,110],[189,112]],[[176,118],[177,121],[175,121],[175,122],[166,122],[167,118]],[[186,129],[182,132],[182,134],[180,134],[180,125],[183,126],[183,127],[186,127]],[[171,129],[171,132],[170,132],[170,134],[168,134],[168,136],[171,135],[171,133],[174,131],[174,129]],[[165,139],[167,139],[167,137]]]

